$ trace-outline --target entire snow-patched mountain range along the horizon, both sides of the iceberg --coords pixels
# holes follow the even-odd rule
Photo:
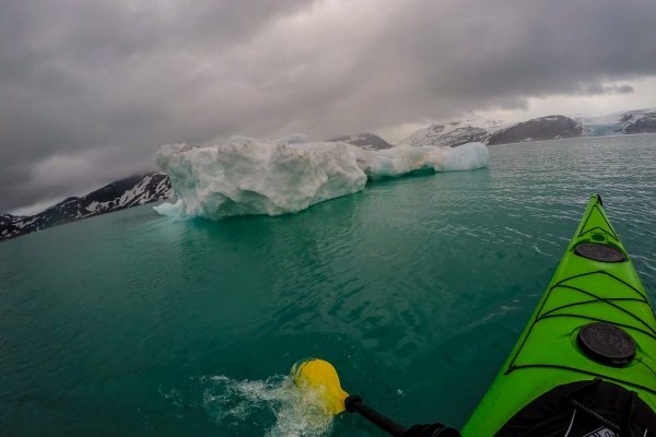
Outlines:
[[[458,146],[468,142],[488,145],[609,134],[656,133],[656,108],[632,109],[602,116],[552,115],[504,123],[499,120],[465,119],[430,125],[398,144],[374,133],[336,137],[329,142],[345,142],[365,150],[411,146]],[[134,175],[110,182],[82,197],[69,197],[33,215],[0,214],[0,241],[75,220],[168,199],[174,196],[165,173]]]

